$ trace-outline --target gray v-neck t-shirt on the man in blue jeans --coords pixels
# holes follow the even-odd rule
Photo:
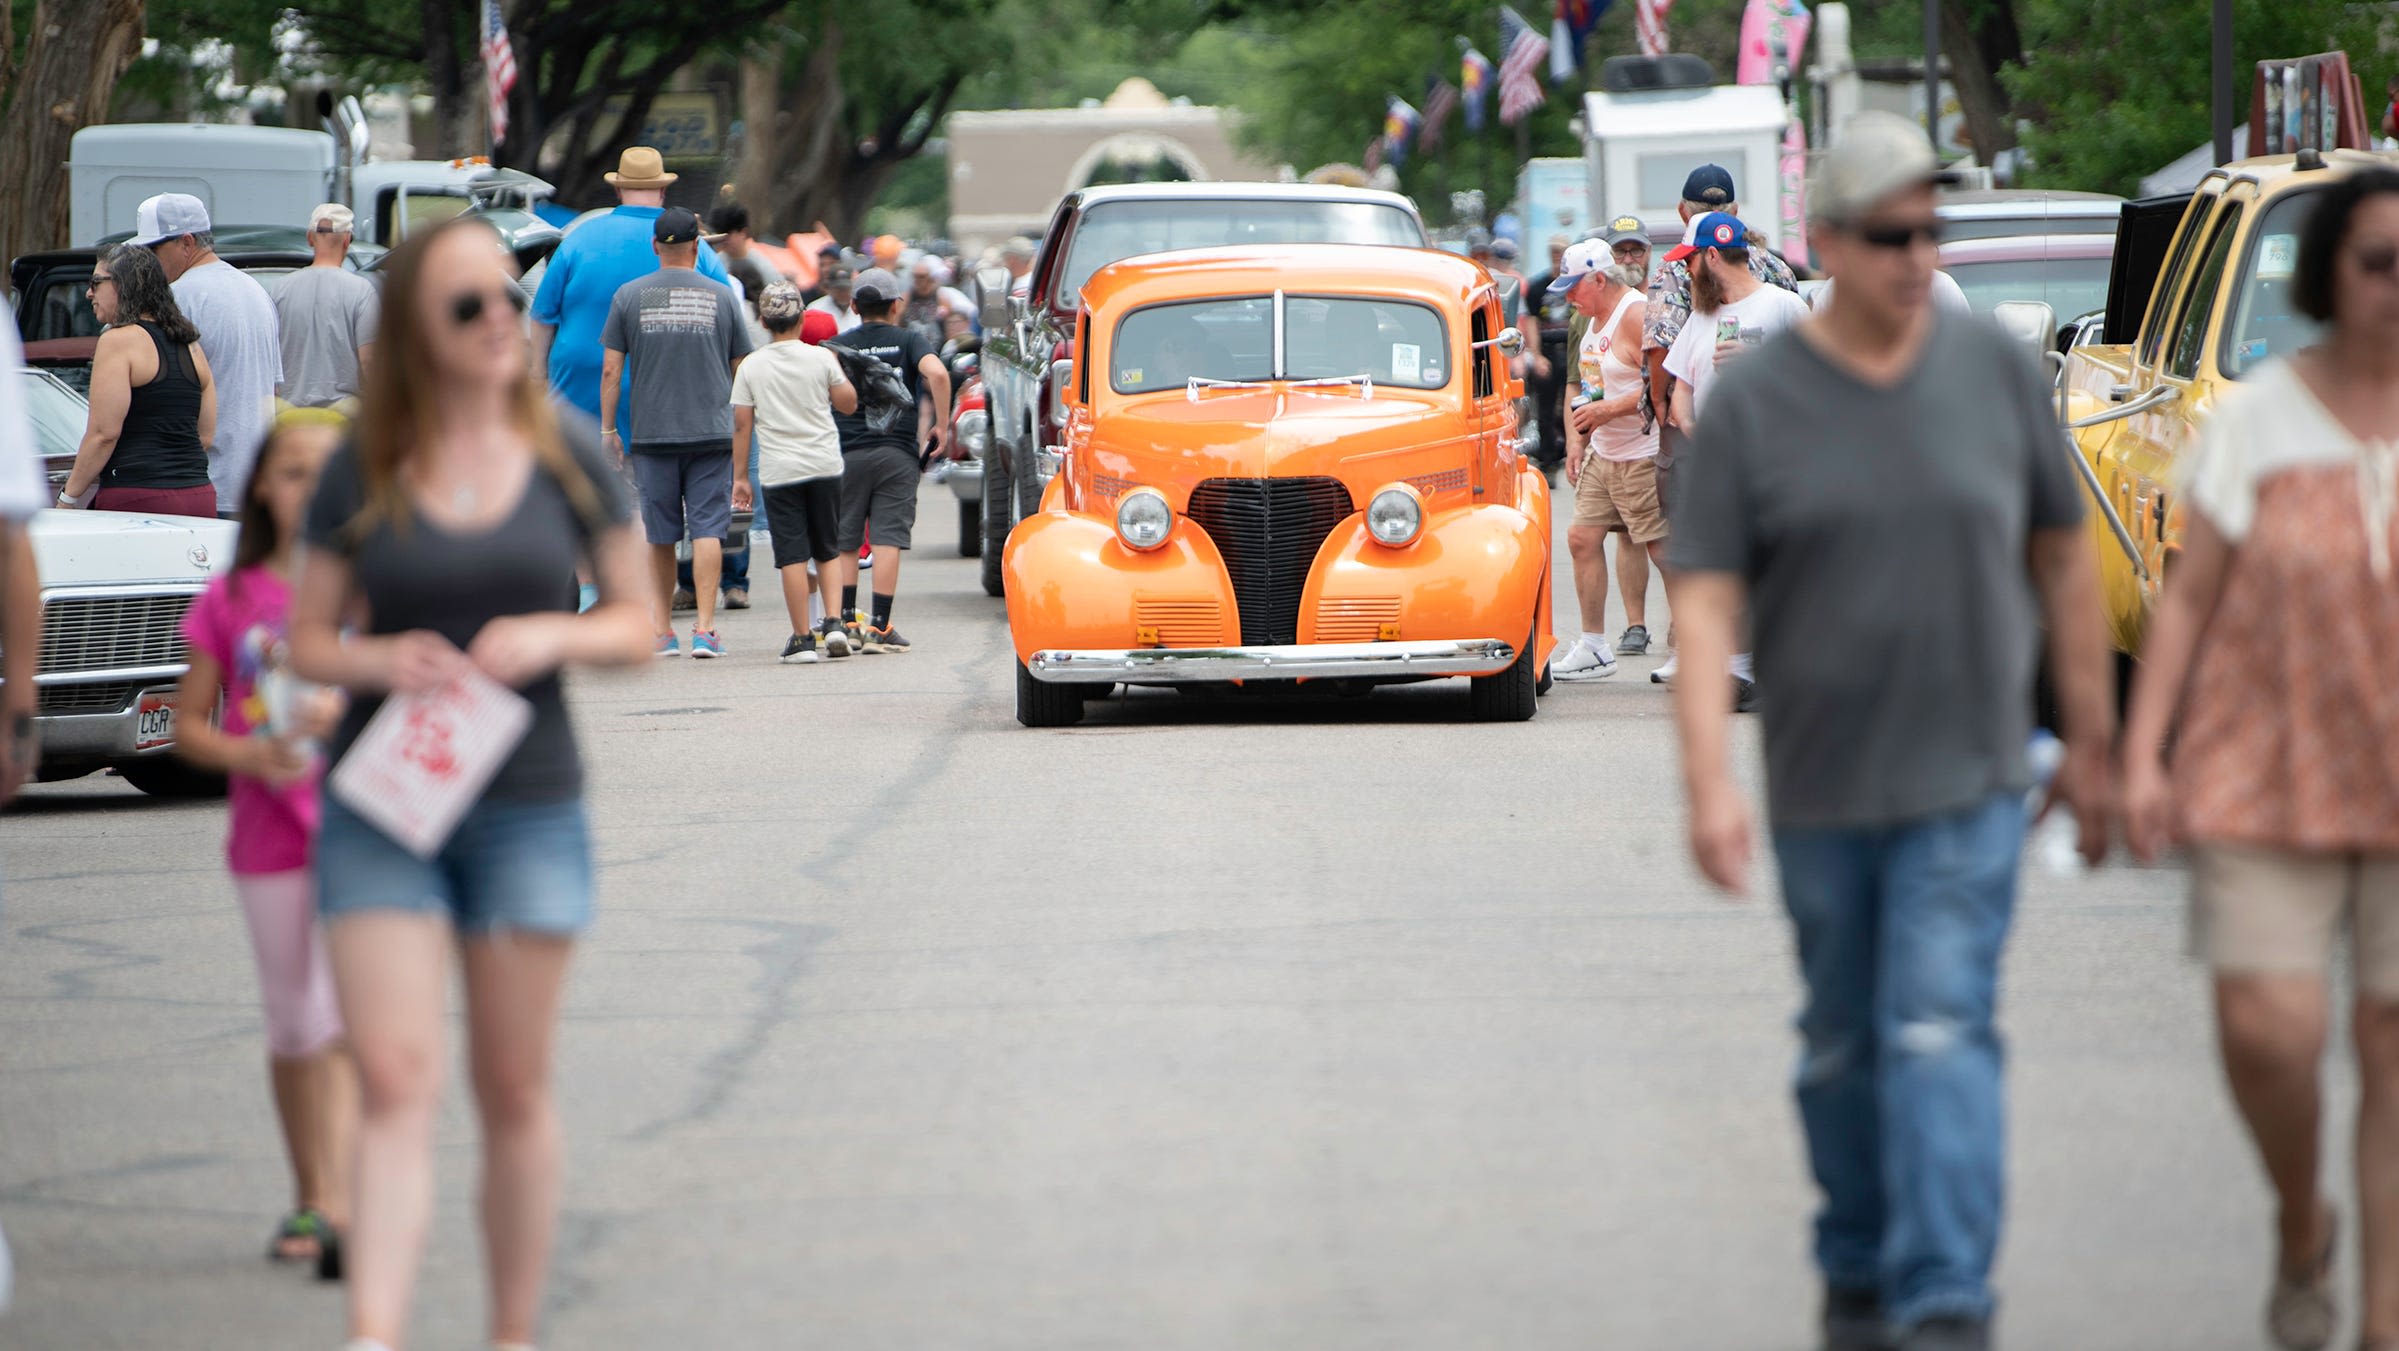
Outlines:
[[[1890,825],[2030,787],[2025,545],[2082,518],[2046,382],[1938,314],[1893,389],[1797,331],[1725,367],[1675,468],[1667,566],[1749,583],[1778,828]]]

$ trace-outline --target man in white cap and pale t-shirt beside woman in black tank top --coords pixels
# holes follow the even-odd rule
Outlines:
[[[209,482],[216,487],[216,511],[233,516],[242,509],[249,461],[259,456],[266,425],[276,418],[276,386],[283,382],[276,302],[257,278],[216,257],[209,209],[199,197],[161,192],[144,199],[134,211],[130,242],[158,254],[158,266],[175,288],[175,307],[199,329],[199,350],[216,382]]]

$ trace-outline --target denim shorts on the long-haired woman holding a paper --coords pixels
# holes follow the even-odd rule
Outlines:
[[[458,933],[581,933],[593,921],[583,799],[482,801],[432,859],[360,821],[331,792],[317,835],[317,914],[444,914]]]

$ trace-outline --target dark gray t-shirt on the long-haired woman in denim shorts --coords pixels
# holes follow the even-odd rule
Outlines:
[[[309,502],[302,538],[350,562],[350,586],[367,600],[367,634],[432,629],[468,648],[485,624],[504,614],[573,614],[576,564],[588,564],[593,540],[631,521],[624,478],[600,449],[600,432],[581,410],[559,415],[559,432],[573,461],[569,485],[535,466],[516,511],[480,533],[451,533],[410,511],[408,521],[377,521],[360,530],[367,480],[357,446],[326,461]],[[583,792],[583,758],[566,717],[566,691],[557,672],[518,689],[533,703],[533,727],[499,765],[487,801],[559,801]],[[360,693],[333,732],[329,756],[338,761],[384,705]]]

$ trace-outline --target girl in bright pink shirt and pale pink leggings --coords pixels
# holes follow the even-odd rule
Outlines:
[[[266,1063],[297,1193],[266,1255],[317,1262],[321,1279],[341,1277],[357,1118],[357,1073],[343,1049],[309,871],[321,765],[307,741],[331,727],[338,696],[290,679],[283,643],[293,540],[341,434],[341,415],[312,408],[266,432],[242,490],[233,569],[182,619],[192,670],[175,693],[175,749],[230,777],[226,861],[266,996]],[[214,722],[218,696],[223,720]]]

